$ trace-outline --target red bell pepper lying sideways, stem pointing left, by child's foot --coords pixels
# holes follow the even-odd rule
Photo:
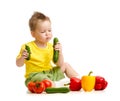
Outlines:
[[[70,83],[64,84],[64,86],[69,85],[71,91],[79,91],[81,89],[81,80],[76,77],[70,78]]]

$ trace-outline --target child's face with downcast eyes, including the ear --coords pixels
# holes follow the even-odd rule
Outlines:
[[[39,43],[47,43],[52,38],[52,30],[50,21],[38,21],[35,31],[32,36]]]

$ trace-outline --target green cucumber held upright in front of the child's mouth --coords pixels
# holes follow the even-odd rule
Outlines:
[[[55,45],[59,42],[58,38],[55,37],[53,39],[53,47],[55,47]],[[56,63],[58,61],[59,58],[59,51],[54,49],[54,53],[53,53],[53,62]]]

